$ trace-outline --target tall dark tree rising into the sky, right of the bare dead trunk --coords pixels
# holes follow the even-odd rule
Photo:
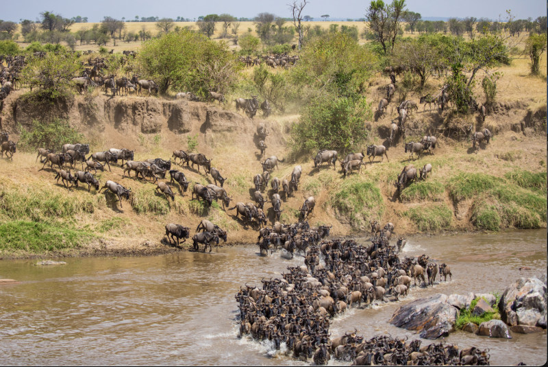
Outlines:
[[[373,0],[365,14],[369,28],[375,34],[377,42],[382,45],[384,54],[388,46],[394,49],[401,21],[407,12],[405,6],[406,0],[393,0],[390,4],[385,4],[382,0]]]

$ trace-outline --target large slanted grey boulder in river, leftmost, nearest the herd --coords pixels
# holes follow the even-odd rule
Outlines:
[[[390,324],[421,333],[423,339],[436,339],[453,331],[458,309],[447,303],[445,294],[414,300],[399,307],[390,318]]]

